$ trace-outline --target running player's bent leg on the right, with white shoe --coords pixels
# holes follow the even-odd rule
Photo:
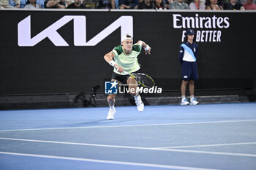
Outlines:
[[[144,109],[144,104],[143,104],[143,101],[141,100],[140,93],[138,93],[137,91],[137,87],[138,87],[137,81],[134,78],[129,77],[127,79],[127,84],[129,87],[130,95],[135,98],[135,103],[137,105],[138,111],[142,112]]]

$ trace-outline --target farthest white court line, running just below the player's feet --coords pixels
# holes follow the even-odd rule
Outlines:
[[[43,130],[61,130],[61,129],[76,129],[76,128],[125,128],[125,127],[141,127],[141,126],[158,126],[158,125],[194,125],[194,124],[211,124],[211,123],[243,123],[243,122],[255,122],[252,120],[226,120],[226,121],[211,121],[211,122],[194,122],[194,123],[163,123],[163,124],[146,124],[146,125],[105,125],[105,126],[81,126],[81,127],[69,127],[69,128],[27,128],[27,129],[10,129],[0,130],[5,131],[43,131]]]

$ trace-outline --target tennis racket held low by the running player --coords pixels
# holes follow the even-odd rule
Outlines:
[[[134,78],[140,85],[142,85],[144,88],[152,88],[155,86],[154,80],[144,73],[129,73],[129,72],[123,72],[124,74],[129,74],[130,77]]]

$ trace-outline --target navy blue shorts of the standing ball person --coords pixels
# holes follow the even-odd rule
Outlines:
[[[188,81],[188,80],[198,79],[196,62],[183,61],[181,63],[181,70],[182,70],[182,80]]]

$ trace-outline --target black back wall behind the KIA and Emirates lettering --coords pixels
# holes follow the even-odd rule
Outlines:
[[[29,15],[32,37],[64,15],[86,16],[87,40],[119,17],[132,16],[134,41],[141,39],[152,47],[150,56],[143,51],[139,56],[140,72],[151,75],[165,91],[178,90],[181,82],[178,51],[182,31],[187,28],[173,28],[173,14],[195,20],[214,16],[228,18],[227,28],[213,28],[213,23],[211,28],[194,28],[195,31],[221,31],[220,42],[197,42],[200,76],[197,89],[256,91],[256,12],[0,10],[0,95],[89,92],[94,85],[100,85],[103,92],[104,81],[111,77],[113,68],[103,56],[120,44],[120,28],[96,46],[78,47],[74,45],[73,21],[70,21],[58,30],[68,47],[56,47],[48,38],[34,47],[20,47],[18,23]]]

